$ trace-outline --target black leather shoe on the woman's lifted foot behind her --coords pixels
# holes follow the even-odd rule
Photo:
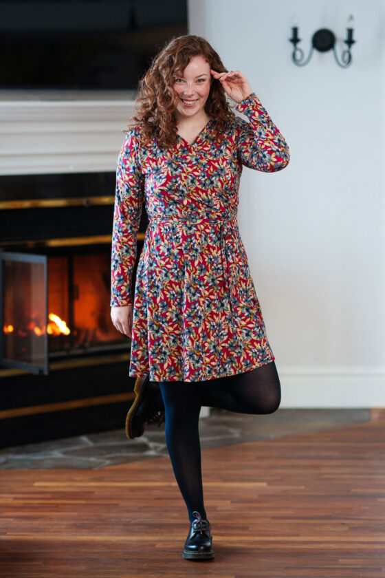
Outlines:
[[[158,423],[164,420],[164,408],[156,407],[159,395],[159,383],[148,380],[148,374],[138,377],[133,389],[135,399],[126,417],[126,436],[129,440],[140,438],[144,434],[146,423]]]

